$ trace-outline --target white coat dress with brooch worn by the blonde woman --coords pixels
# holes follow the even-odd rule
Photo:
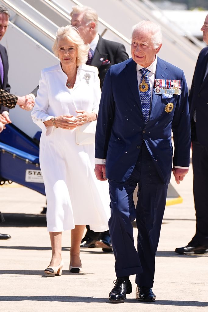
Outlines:
[[[61,232],[89,224],[93,231],[103,232],[108,229],[110,199],[108,183],[98,181],[94,174],[94,144],[77,145],[76,129],[56,129],[43,123],[55,116],[76,116],[75,110],[98,114],[98,69],[79,66],[73,89],[67,88],[66,81],[60,64],[43,69],[31,113],[42,129],[40,167],[46,189],[47,228]]]

